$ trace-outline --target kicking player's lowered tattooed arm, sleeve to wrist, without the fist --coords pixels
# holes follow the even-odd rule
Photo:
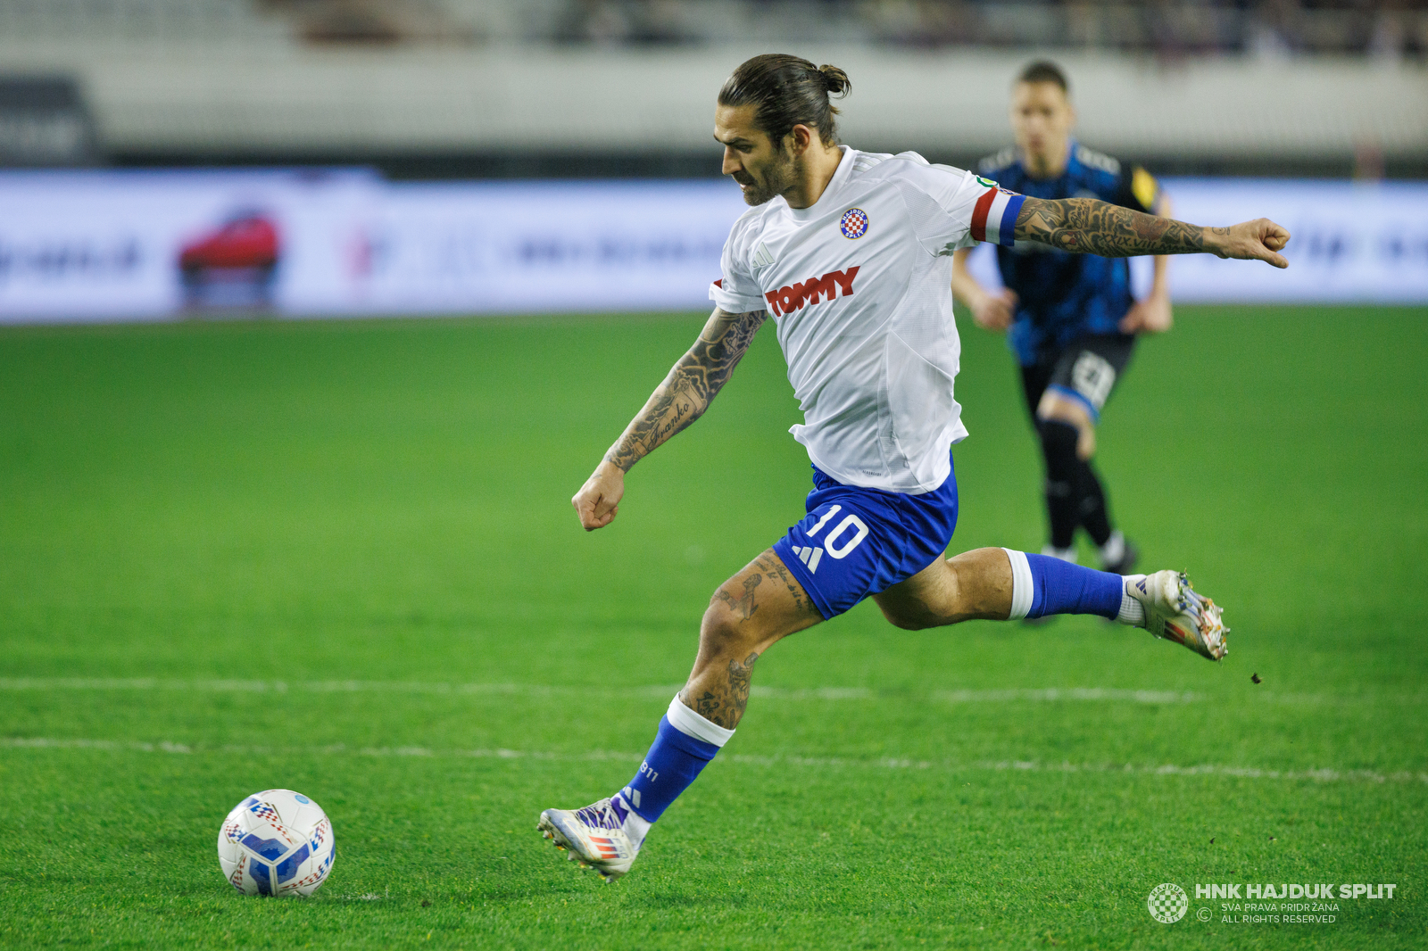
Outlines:
[[[730,314],[714,308],[700,338],[680,357],[670,376],[610,447],[605,461],[630,471],[631,466],[657,446],[700,418],[728,383],[767,317],[768,311],[764,310]]]

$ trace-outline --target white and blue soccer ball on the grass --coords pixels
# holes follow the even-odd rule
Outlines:
[[[244,895],[310,895],[337,858],[327,812],[301,792],[254,792],[218,830],[218,865]]]

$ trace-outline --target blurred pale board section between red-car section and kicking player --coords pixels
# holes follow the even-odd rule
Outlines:
[[[366,226],[361,301],[386,313],[701,308],[745,210],[720,180],[393,184]]]

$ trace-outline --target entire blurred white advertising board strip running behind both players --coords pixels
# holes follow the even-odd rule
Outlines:
[[[1177,300],[1428,301],[1428,183],[1164,184],[1175,217],[1267,216],[1294,234],[1288,271],[1177,258]],[[743,211],[721,180],[9,171],[0,173],[0,323],[704,308]],[[974,267],[995,280],[990,248]],[[1147,270],[1137,261],[1138,280]]]

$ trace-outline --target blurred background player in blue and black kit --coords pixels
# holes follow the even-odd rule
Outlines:
[[[1071,137],[1074,124],[1065,76],[1051,63],[1032,63],[1012,87],[1017,144],[984,158],[978,171],[1028,198],[1085,196],[1170,214],[1170,200],[1148,171],[1080,144]],[[1101,408],[1131,361],[1135,336],[1171,326],[1167,258],[1155,258],[1151,291],[1137,301],[1124,257],[1072,254],[1018,236],[1015,246],[997,247],[1002,288],[992,291],[967,270],[968,254],[952,254],[952,293],[978,326],[1007,331],[1041,440],[1050,527],[1041,554],[1075,561],[1081,527],[1102,568],[1130,574],[1135,545],[1112,527],[1091,457]]]

